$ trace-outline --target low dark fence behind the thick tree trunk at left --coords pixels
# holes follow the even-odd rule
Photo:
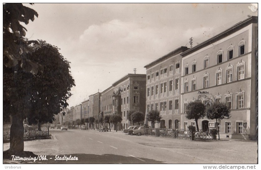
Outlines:
[[[38,131],[38,128],[25,129],[23,133],[24,139],[41,139],[49,138],[48,128],[41,128],[41,131]],[[10,128],[3,128],[3,140],[10,139]]]

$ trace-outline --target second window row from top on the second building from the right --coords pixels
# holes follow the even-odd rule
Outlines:
[[[169,80],[169,91],[173,91],[173,80]],[[160,85],[160,89],[159,89]],[[175,90],[179,89],[179,78],[175,79]],[[160,90],[160,91],[159,91]],[[155,94],[157,95],[158,93],[165,93],[167,92],[167,82],[161,83],[161,84],[156,84],[155,85]],[[147,96],[153,96],[154,95],[154,86],[151,86],[147,88]]]

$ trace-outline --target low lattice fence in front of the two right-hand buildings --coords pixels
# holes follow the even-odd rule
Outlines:
[[[173,138],[173,139],[185,139],[185,140],[196,140],[196,139],[213,139],[210,133],[199,130],[199,132],[191,133],[190,130],[185,129],[166,129],[166,128],[145,128],[144,136],[153,136],[161,138]]]

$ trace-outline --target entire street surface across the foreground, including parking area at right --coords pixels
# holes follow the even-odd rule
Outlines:
[[[252,141],[189,141],[97,130],[50,129],[53,139],[25,141],[25,151],[47,155],[35,163],[256,163]],[[9,143],[4,143],[7,150]],[[78,160],[55,160],[55,155]],[[50,159],[51,158],[51,159]],[[5,160],[4,160],[5,162]],[[7,162],[14,163],[14,162]],[[20,161],[19,163],[26,163]]]

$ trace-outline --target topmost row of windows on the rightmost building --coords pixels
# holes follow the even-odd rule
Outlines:
[[[245,54],[245,41],[241,41],[238,45],[238,56],[241,56],[243,54]],[[233,59],[233,55],[234,55],[234,47],[230,46],[227,49],[227,61]],[[217,64],[223,63],[223,62],[224,62],[223,51],[219,50],[217,52]],[[209,57],[208,56],[205,56],[203,63],[204,63],[204,69],[209,67]],[[184,74],[185,75],[189,74],[188,67],[189,67],[188,64],[186,64],[185,67],[184,67]],[[192,73],[196,72],[196,71],[197,71],[196,61],[193,61],[192,62]]]

